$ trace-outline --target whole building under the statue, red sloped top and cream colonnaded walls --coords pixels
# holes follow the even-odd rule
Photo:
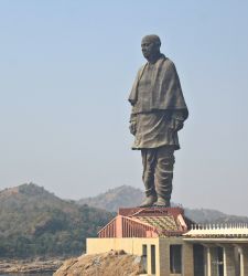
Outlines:
[[[248,276],[248,226],[196,225],[181,208],[120,209],[87,238],[87,254],[123,250],[141,256],[144,275]]]

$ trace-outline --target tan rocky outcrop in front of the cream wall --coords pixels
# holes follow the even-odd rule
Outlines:
[[[123,251],[110,251],[67,259],[53,276],[134,276],[142,273],[144,270],[140,256],[126,254]]]

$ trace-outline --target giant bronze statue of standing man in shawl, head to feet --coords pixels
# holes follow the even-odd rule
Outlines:
[[[147,63],[139,70],[129,102],[132,149],[141,150],[145,199],[140,206],[170,206],[177,131],[188,116],[175,65],[160,52],[158,35],[142,39]]]

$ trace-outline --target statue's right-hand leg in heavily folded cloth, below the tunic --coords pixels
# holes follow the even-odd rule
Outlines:
[[[165,146],[158,148],[154,172],[154,183],[158,195],[158,201],[154,205],[157,206],[170,206],[174,162],[174,149],[172,147]]]

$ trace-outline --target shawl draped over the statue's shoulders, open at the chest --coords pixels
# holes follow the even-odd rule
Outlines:
[[[147,64],[139,70],[128,98],[133,106],[132,113],[134,114],[142,113],[142,110],[136,108],[136,103],[138,100],[139,79]],[[157,61],[151,82],[150,110],[154,109],[169,112],[176,109],[182,112],[184,119],[188,116],[175,65],[164,55],[161,55],[161,59]]]

